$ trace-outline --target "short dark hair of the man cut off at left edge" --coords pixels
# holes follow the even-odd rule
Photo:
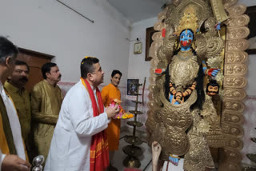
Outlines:
[[[16,58],[18,55],[18,48],[14,46],[7,38],[0,36],[0,63],[6,62],[6,58]]]

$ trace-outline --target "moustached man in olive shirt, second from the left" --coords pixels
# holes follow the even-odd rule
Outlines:
[[[28,82],[29,73],[30,67],[26,62],[17,60],[15,62],[14,71],[10,77],[7,78],[4,87],[14,101],[14,105],[18,113],[18,119],[21,123],[22,137],[30,156],[30,93],[24,88],[26,82]]]

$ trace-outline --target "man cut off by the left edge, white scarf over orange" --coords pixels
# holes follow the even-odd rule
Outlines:
[[[6,38],[0,37],[0,170],[29,171],[21,125],[14,103],[2,83],[14,70],[18,49]]]

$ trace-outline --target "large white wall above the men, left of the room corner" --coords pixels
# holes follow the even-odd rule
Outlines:
[[[126,85],[129,21],[105,0],[62,2],[94,23],[56,0],[0,0],[0,34],[19,47],[54,55],[62,82],[77,82],[82,58],[91,55],[100,59],[106,84],[117,69],[123,73],[121,85]]]

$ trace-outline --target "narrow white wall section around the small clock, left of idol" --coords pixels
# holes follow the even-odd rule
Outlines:
[[[128,78],[139,79],[139,82],[143,83],[144,77],[146,77],[146,87],[149,86],[150,77],[150,62],[145,62],[146,28],[154,26],[157,21],[157,18],[149,18],[141,22],[135,22],[130,30]],[[142,54],[134,54],[136,38],[139,38],[142,42]]]

